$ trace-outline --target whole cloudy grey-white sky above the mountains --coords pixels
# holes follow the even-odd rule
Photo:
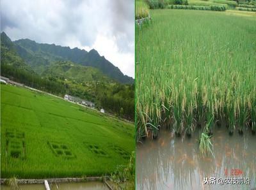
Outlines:
[[[95,48],[134,78],[134,0],[1,0],[11,40]]]

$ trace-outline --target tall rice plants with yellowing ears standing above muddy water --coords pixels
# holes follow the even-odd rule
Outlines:
[[[136,28],[137,140],[173,127],[211,134],[255,128],[256,17],[194,10],[152,10]],[[154,126],[154,127],[152,127]]]

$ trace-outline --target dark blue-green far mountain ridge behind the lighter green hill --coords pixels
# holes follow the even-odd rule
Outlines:
[[[1,39],[7,39],[5,33],[1,33]],[[79,48],[70,49],[69,47],[61,47],[59,45],[49,45],[46,43],[36,43],[35,41],[22,39],[17,41],[3,40],[3,44],[8,47],[12,46],[24,61],[26,61],[33,70],[41,74],[46,66],[55,61],[72,61],[83,66],[92,66],[99,69],[109,78],[124,84],[132,84],[134,80],[124,75],[120,69],[116,68],[111,62],[106,60],[104,56],[100,56],[96,50],[80,50]],[[5,44],[5,42],[8,43]],[[1,43],[2,47],[2,43]],[[1,50],[2,51],[2,50]]]

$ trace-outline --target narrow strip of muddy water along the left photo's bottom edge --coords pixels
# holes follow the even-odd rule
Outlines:
[[[108,187],[102,182],[85,182],[85,183],[61,183],[49,184],[51,190],[108,190]],[[58,186],[58,187],[57,187]],[[8,186],[1,186],[1,190],[9,190]],[[19,190],[45,190],[44,184],[20,185]]]

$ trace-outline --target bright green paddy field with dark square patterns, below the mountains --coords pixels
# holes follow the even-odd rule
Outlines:
[[[1,85],[1,178],[100,176],[126,164],[133,124],[63,99]]]

